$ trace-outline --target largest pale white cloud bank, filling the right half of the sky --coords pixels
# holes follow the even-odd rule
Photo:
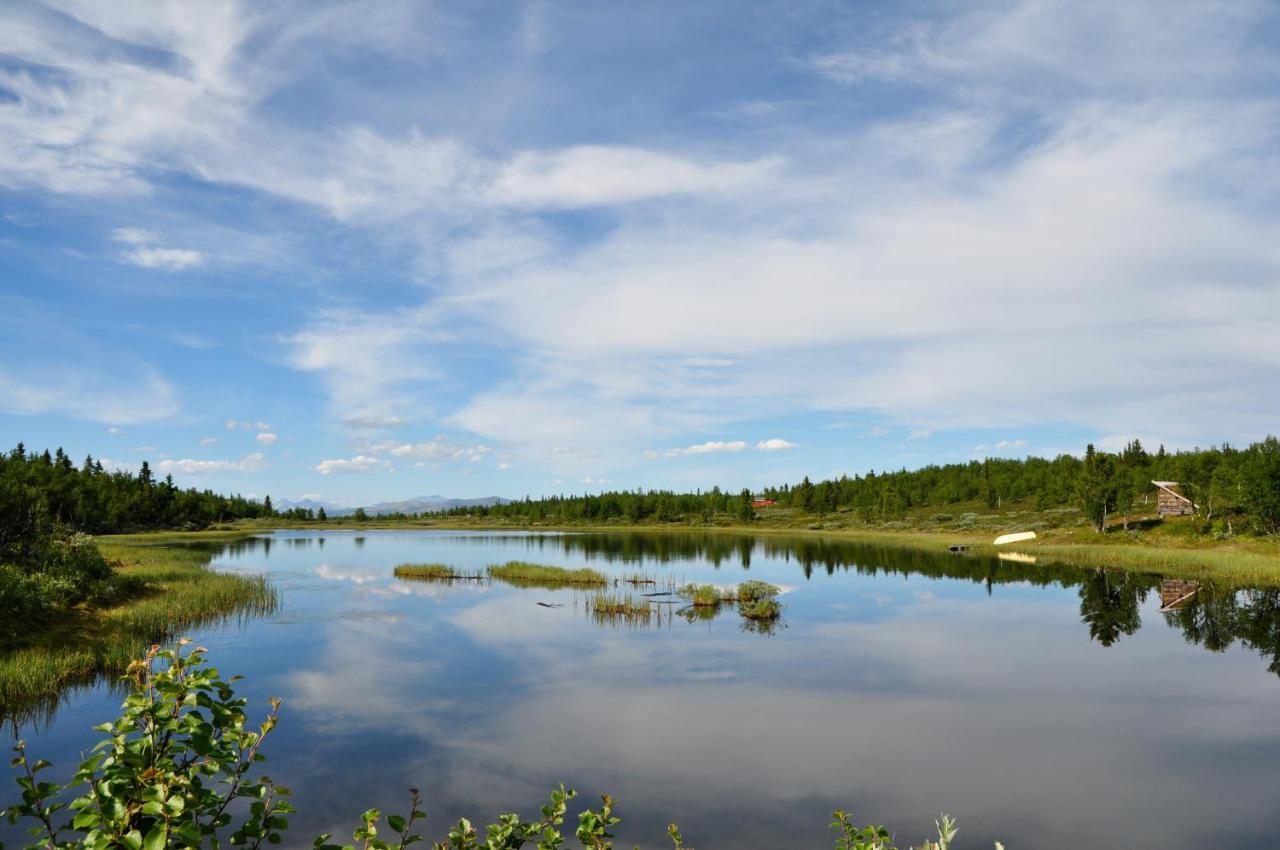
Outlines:
[[[947,28],[968,38],[892,41],[927,63],[911,76],[942,105],[840,142],[847,166],[790,175],[767,215],[739,202],[758,219],[626,219],[511,274],[484,310],[527,362],[457,421],[500,440],[562,425],[635,440],[783,406],[874,412],[913,439],[1043,422],[1172,429],[1181,444],[1266,433],[1280,416],[1280,221],[1258,187],[1275,186],[1280,99],[1167,82],[1230,95],[1245,74],[1274,77],[1248,36],[1260,6],[1180,4],[1153,33],[1124,5],[983,5]],[[1071,96],[1027,95],[1030,72],[1039,92]],[[1041,133],[993,154],[1027,110]],[[717,357],[736,365],[714,383],[658,367]],[[1117,362],[1143,380],[1100,380]]]

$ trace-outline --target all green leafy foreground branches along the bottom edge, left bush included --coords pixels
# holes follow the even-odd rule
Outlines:
[[[146,658],[129,667],[129,695],[120,717],[95,726],[106,737],[91,750],[70,782],[41,780],[50,768],[32,762],[23,741],[14,745],[12,767],[22,801],[4,810],[9,823],[31,821],[35,844],[28,850],[168,850],[211,847],[223,842],[259,850],[264,844],[284,841],[291,791],[268,776],[256,776],[256,764],[266,760],[262,744],[279,722],[280,700],[270,700],[270,712],[256,726],[250,723],[246,700],[236,696],[232,684],[206,662],[206,650],[179,641],[175,650],[152,646]],[[449,828],[435,850],[538,850],[564,846],[563,826],[568,803],[576,792],[563,785],[552,791],[540,815],[522,821],[502,814],[477,828],[461,819]],[[426,814],[422,796],[410,789],[407,815],[369,809],[352,832],[352,844],[330,842],[321,835],[314,850],[404,850],[422,841],[413,832]],[[621,822],[613,799],[600,798],[599,808],[577,814],[573,837],[588,850],[609,850],[611,830]],[[845,812],[836,812],[831,824],[840,837],[838,850],[896,850],[884,827],[858,827]],[[942,815],[938,840],[916,850],[948,850],[955,822]],[[685,847],[680,828],[672,823],[667,836],[675,850]],[[997,844],[997,850],[1000,845]],[[0,849],[3,850],[3,849]]]

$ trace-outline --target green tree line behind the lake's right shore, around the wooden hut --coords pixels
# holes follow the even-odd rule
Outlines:
[[[1204,524],[1235,533],[1280,533],[1280,442],[1275,437],[1238,449],[1148,452],[1139,440],[1120,452],[1089,445],[1084,457],[986,458],[929,465],[918,470],[842,475],[838,479],[769,486],[758,494],[713,488],[698,493],[616,490],[596,495],[525,498],[492,507],[448,511],[452,516],[520,522],[675,522],[716,516],[755,518],[753,501],[806,513],[852,512],[865,522],[902,520],[914,508],[977,504],[988,509],[1018,504],[1037,511],[1076,508],[1102,529],[1112,518],[1152,512],[1152,480],[1179,483]]]

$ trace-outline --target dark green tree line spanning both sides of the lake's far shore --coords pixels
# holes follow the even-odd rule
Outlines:
[[[852,513],[868,522],[905,520],[920,508],[1016,504],[1047,511],[1079,509],[1100,530],[1155,509],[1152,480],[1179,483],[1194,515],[1210,527],[1235,534],[1280,534],[1280,440],[1267,437],[1247,448],[1148,452],[1133,440],[1120,452],[1089,445],[1083,457],[986,458],[929,465],[916,470],[842,475],[838,479],[768,486],[736,493],[716,486],[695,493],[613,490],[599,494],[529,498],[489,507],[463,507],[444,516],[525,524],[666,524],[731,520],[751,522],[754,502],[823,516]],[[420,515],[422,516],[422,515]],[[440,515],[434,515],[440,516]],[[102,467],[86,457],[76,466],[59,448],[28,453],[19,443],[0,456],[0,553],[4,541],[23,536],[36,518],[91,534],[150,529],[204,529],[242,518],[280,517],[320,521],[324,511],[275,512],[270,497],[259,502],[211,490],[179,489],[172,476],[156,480],[143,462],[137,474]],[[367,520],[362,509],[348,521]],[[381,520],[411,518],[389,515]],[[29,535],[28,535],[29,536]]]

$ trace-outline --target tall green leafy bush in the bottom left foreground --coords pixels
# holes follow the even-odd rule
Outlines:
[[[284,815],[293,812],[283,800],[288,789],[250,776],[262,760],[259,749],[275,727],[279,703],[260,732],[244,731],[244,702],[207,664],[206,650],[182,652],[188,644],[178,650],[152,646],[129,666],[120,716],[93,727],[106,737],[69,783],[37,782],[36,773],[49,763],[28,766],[19,744],[14,767],[24,771],[17,777],[24,794],[8,814],[40,821],[33,847],[164,850],[214,845],[219,833],[253,846],[280,841],[288,828]],[[211,790],[210,782],[223,790]],[[65,804],[46,800],[69,794],[77,795],[74,814],[58,824],[54,814]],[[246,798],[250,805],[236,804]]]

